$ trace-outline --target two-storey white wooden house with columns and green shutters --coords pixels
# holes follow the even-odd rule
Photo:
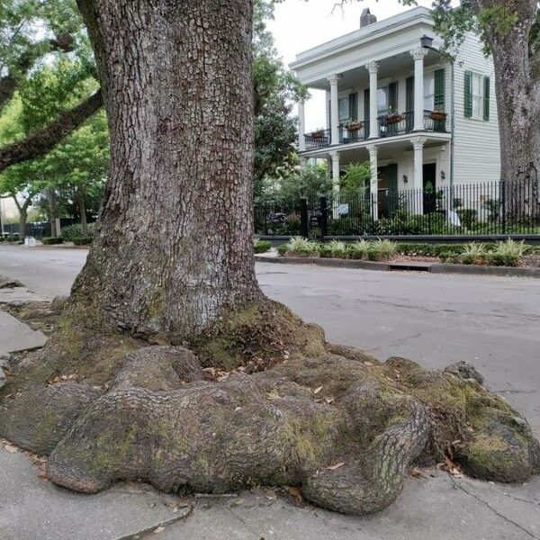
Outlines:
[[[417,7],[297,55],[308,88],[327,92],[327,126],[305,133],[301,157],[331,160],[336,189],[348,163],[371,161],[371,193],[498,182],[493,64],[468,34],[454,61],[439,52],[430,11]]]

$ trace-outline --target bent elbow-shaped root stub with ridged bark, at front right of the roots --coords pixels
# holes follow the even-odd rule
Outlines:
[[[359,420],[355,427],[360,439],[381,428],[381,422],[383,432],[367,446],[360,446],[342,466],[311,476],[302,493],[327,509],[370,514],[398,497],[410,464],[428,442],[428,419],[418,402],[399,394],[385,395],[374,387],[354,388],[347,401],[353,418]]]

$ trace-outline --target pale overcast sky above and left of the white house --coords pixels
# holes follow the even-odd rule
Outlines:
[[[431,3],[432,0],[418,0],[419,5],[430,7]],[[398,0],[352,0],[343,7],[334,0],[284,0],[283,4],[276,4],[275,20],[268,23],[268,28],[274,34],[276,49],[285,64],[289,64],[299,52],[357,30],[365,7],[369,7],[379,21],[410,9]],[[324,92],[311,91],[305,117],[307,131],[324,127]]]

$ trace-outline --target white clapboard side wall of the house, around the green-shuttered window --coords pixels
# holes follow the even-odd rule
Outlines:
[[[465,118],[464,76],[473,71],[491,77],[490,120]],[[500,144],[495,76],[491,57],[482,52],[480,39],[468,34],[455,60],[455,184],[498,182]]]

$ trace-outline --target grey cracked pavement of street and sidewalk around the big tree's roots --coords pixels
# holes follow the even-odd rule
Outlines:
[[[85,253],[2,246],[0,275],[52,298],[68,293]],[[540,436],[537,280],[315,266],[275,271],[264,263],[257,274],[266,294],[321,324],[331,341],[427,367],[473,363]],[[38,478],[28,458],[5,450],[0,470],[0,540],[540,540],[540,477],[504,485],[423,471],[391,508],[351,518],[262,490],[180,499],[121,484],[82,496]]]

